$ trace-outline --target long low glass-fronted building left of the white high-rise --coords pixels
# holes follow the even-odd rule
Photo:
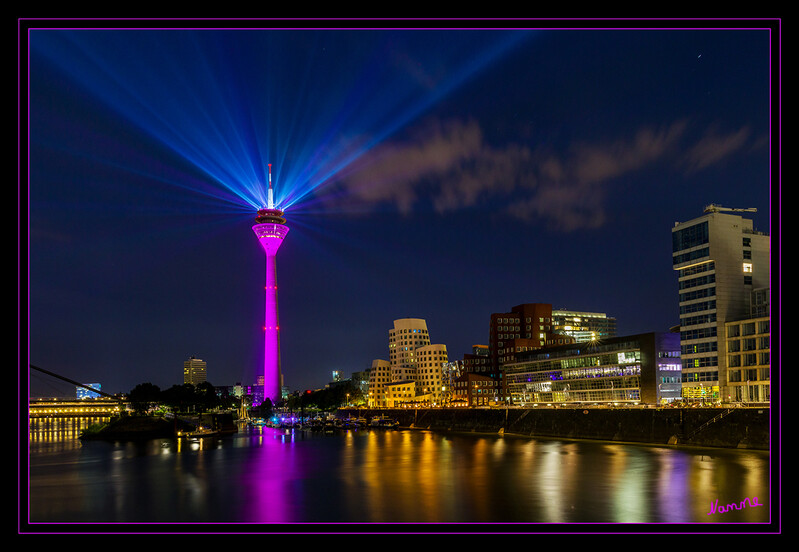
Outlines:
[[[509,400],[547,404],[663,404],[680,398],[680,336],[646,333],[545,347],[505,365]]]

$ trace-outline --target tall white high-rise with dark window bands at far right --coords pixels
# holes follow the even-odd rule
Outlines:
[[[768,234],[729,209],[672,228],[672,263],[679,288],[682,394],[687,401],[726,400],[725,327],[750,316],[753,291],[769,287]]]

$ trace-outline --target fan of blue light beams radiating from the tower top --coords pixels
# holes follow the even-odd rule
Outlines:
[[[88,104],[71,114],[73,124],[100,117],[91,106],[99,100],[208,182],[174,170],[170,178],[150,172],[153,178],[252,212],[266,203],[272,163],[276,203],[296,211],[323,195],[353,161],[529,36],[33,30],[31,70],[57,71],[58,80],[50,81],[56,89],[79,86]],[[70,146],[100,155],[94,143]],[[143,172],[141,164],[105,162]]]

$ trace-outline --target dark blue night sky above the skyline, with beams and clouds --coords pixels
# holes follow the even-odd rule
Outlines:
[[[388,359],[397,318],[451,359],[522,303],[667,331],[676,221],[754,207],[772,231],[765,22],[200,23],[22,31],[31,364],[107,392],[182,383],[189,356],[254,382],[269,163],[292,390]]]

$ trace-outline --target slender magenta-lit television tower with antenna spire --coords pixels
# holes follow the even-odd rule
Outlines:
[[[259,209],[253,232],[266,253],[266,286],[264,309],[264,399],[272,404],[280,399],[280,325],[277,317],[277,265],[275,257],[289,233],[283,211],[275,208],[272,196],[272,165],[269,165],[267,206]]]

